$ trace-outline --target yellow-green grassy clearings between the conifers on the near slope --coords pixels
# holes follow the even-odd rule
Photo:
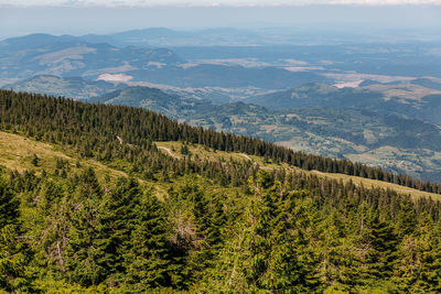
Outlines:
[[[180,152],[182,146],[181,142],[157,142],[157,145],[163,148],[161,149],[161,151],[169,155],[172,154],[175,157],[183,156]],[[197,155],[200,159],[207,159],[209,161],[218,161],[218,160],[228,161],[230,159],[244,160],[244,161],[252,160],[256,164],[258,164],[262,168],[278,168],[280,166],[284,166],[287,168],[292,168],[301,173],[310,173],[319,176],[343,179],[344,182],[352,181],[355,184],[364,185],[366,187],[374,186],[374,187],[390,188],[401,194],[410,194],[413,198],[431,197],[433,199],[441,200],[441,195],[420,192],[386,182],[362,178],[356,176],[348,176],[343,174],[329,174],[315,171],[305,172],[297,167],[289,167],[286,164],[278,165],[273,163],[263,163],[263,159],[258,156],[248,156],[246,154],[233,153],[233,152],[229,153],[223,151],[214,152],[213,150],[206,149],[202,145],[189,145],[189,150],[192,153],[192,156]],[[32,165],[32,159],[34,154],[36,154],[41,159],[39,166]],[[80,163],[82,166],[90,166],[97,172],[99,178],[104,178],[106,175],[109,175],[110,177],[128,176],[128,174],[123,171],[120,171],[120,168],[112,168],[109,165],[105,165],[95,160],[80,159],[72,149],[60,145],[53,145],[44,142],[33,141],[19,134],[0,132],[0,165],[6,166],[9,170],[17,170],[19,172],[23,172],[25,170],[34,170],[36,173],[41,173],[43,168],[46,171],[53,171],[56,165],[56,159],[63,159],[67,161],[69,167],[74,171],[77,170],[76,168],[77,161]],[[114,165],[116,165],[116,163],[112,163],[112,166]],[[193,181],[201,181],[201,178],[196,178],[194,176],[192,176],[191,178]],[[154,187],[157,196],[161,199],[163,199],[163,196],[166,194],[166,189],[171,185],[175,184],[175,183],[166,184],[166,183],[149,182],[142,179],[140,179],[140,182],[146,187]],[[208,183],[208,185],[206,185],[206,182],[204,184],[204,188],[206,188],[208,193],[233,192],[232,188],[223,188],[215,184]]]

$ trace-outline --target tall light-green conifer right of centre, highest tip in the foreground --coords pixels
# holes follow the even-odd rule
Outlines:
[[[301,209],[294,213],[295,194],[284,194],[266,171],[250,181],[250,188],[251,204],[244,222],[233,229],[236,238],[220,252],[219,268],[212,273],[214,284],[237,292],[306,291],[313,270],[300,224],[308,217]]]

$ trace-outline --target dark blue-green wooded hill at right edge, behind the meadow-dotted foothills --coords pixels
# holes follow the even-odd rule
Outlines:
[[[441,91],[426,95],[423,88],[419,87],[422,85],[437,90],[441,87],[441,83],[429,78],[383,85],[374,83],[358,88],[336,88],[311,83],[289,90],[250,97],[245,101],[273,109],[302,107],[367,109],[383,115],[395,113],[441,124],[439,115]],[[400,91],[408,91],[408,96],[400,95]]]

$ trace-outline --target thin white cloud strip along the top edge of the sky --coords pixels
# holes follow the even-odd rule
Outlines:
[[[279,7],[308,4],[399,6],[439,4],[441,0],[0,0],[0,6],[10,7]]]

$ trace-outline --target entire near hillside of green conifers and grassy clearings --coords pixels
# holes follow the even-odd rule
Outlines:
[[[439,184],[140,108],[9,90],[0,131],[4,291],[441,291],[435,197],[309,171]],[[180,149],[155,143],[168,141]]]

